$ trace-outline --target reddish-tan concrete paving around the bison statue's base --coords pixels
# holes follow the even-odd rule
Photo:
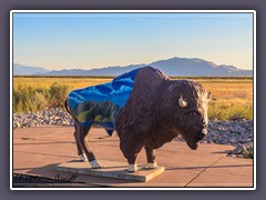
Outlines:
[[[125,162],[117,136],[93,128],[88,137],[99,160]],[[232,146],[201,143],[196,151],[185,142],[173,141],[156,150],[156,159],[165,171],[149,182],[75,177],[90,187],[253,187],[253,160],[226,157]],[[55,166],[75,160],[73,127],[45,126],[13,130],[13,173],[69,179],[73,174],[55,171]],[[144,150],[139,163],[146,163]],[[101,163],[100,163],[101,164]]]

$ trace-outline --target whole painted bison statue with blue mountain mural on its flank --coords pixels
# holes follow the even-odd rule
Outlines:
[[[65,108],[74,119],[78,153],[100,168],[85,137],[93,123],[111,136],[116,130],[129,171],[137,171],[137,154],[145,148],[147,168],[157,168],[155,151],[181,134],[196,150],[207,133],[211,93],[194,81],[171,80],[160,70],[144,67],[111,82],[73,90]],[[84,154],[83,154],[84,153]]]

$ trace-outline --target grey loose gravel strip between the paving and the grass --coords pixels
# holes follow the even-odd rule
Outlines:
[[[13,129],[44,124],[73,124],[64,109],[47,109],[38,112],[13,113]],[[184,141],[177,137],[175,140]],[[208,134],[203,143],[231,144],[235,149],[228,157],[253,158],[253,120],[211,120]]]

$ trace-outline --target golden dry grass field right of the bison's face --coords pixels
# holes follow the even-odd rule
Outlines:
[[[212,92],[211,119],[253,119],[253,79],[195,79]]]

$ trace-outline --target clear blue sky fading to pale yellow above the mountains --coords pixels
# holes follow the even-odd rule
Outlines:
[[[14,63],[92,69],[201,58],[253,68],[252,13],[13,13]]]

